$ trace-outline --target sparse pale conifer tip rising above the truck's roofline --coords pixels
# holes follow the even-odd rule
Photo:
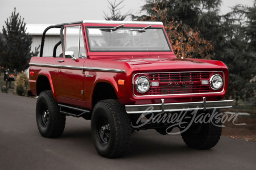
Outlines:
[[[105,20],[125,20],[127,16],[130,15],[130,11],[126,12],[126,14],[122,15],[120,10],[125,7],[120,5],[123,3],[124,0],[120,1],[119,3],[109,2],[109,9],[110,9],[110,16],[108,14],[105,14],[104,12],[104,18]]]

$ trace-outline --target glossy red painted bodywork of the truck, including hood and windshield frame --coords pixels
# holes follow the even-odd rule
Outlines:
[[[178,59],[175,57],[174,52],[90,52],[86,37],[86,26],[111,26],[116,27],[119,24],[75,24],[81,25],[84,33],[84,44],[87,58],[79,58],[77,61],[71,58],[53,58],[53,57],[32,57],[30,63],[41,63],[48,65],[61,65],[61,66],[75,66],[75,67],[97,67],[107,69],[125,70],[125,73],[115,73],[106,71],[94,71],[81,69],[67,69],[61,67],[42,67],[31,66],[30,75],[30,89],[32,94],[36,94],[36,82],[39,76],[46,76],[51,85],[51,89],[55,99],[59,103],[67,103],[76,105],[83,108],[92,109],[92,96],[94,87],[97,83],[109,83],[115,90],[119,101],[122,104],[154,104],[160,103],[160,99],[164,99],[166,103],[175,102],[190,102],[202,101],[202,97],[207,97],[207,100],[220,100],[225,96],[228,88],[228,68],[221,61],[204,60],[204,59]],[[127,24],[124,27],[128,26]],[[130,25],[129,27],[144,27],[144,25]],[[163,25],[152,25],[152,27],[161,27]],[[166,33],[166,32],[164,32]],[[170,42],[168,42],[170,43]],[[59,63],[58,60],[63,59],[64,62]],[[85,73],[87,71],[88,73]],[[201,78],[196,83],[201,88],[201,92],[206,94],[197,94],[189,91],[189,95],[182,95],[180,93],[172,94],[171,96],[162,96],[159,90],[148,91],[146,94],[138,94],[133,92],[133,76],[134,74],[144,73],[143,75],[150,76],[148,73],[161,73],[161,72],[193,72],[193,71],[208,71],[210,75],[214,74],[213,71],[222,71],[222,77],[225,76],[225,85],[218,91],[213,91],[208,85],[201,85],[201,80],[209,80]],[[86,76],[86,74],[91,76]],[[219,73],[218,73],[219,74]],[[135,76],[136,78],[136,76]],[[122,81],[121,81],[122,80]],[[125,82],[125,83],[124,83]],[[187,83],[192,82],[191,80]],[[177,80],[179,86],[182,85],[181,81]],[[164,82],[159,83],[160,86]],[[203,88],[207,89],[204,91]],[[84,90],[84,94],[81,91]],[[200,90],[199,90],[200,91]],[[219,92],[208,94],[211,92]],[[135,96],[135,95],[137,96]],[[157,94],[159,96],[152,96],[150,94]],[[144,96],[147,95],[147,96]]]

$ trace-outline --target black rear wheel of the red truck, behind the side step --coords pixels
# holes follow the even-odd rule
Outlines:
[[[36,102],[36,123],[43,137],[59,137],[65,128],[66,117],[59,112],[52,91],[47,90],[40,93]]]

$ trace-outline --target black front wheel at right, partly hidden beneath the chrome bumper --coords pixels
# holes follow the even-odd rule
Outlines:
[[[207,111],[213,114],[212,110]],[[181,136],[188,147],[196,149],[208,149],[214,147],[221,136],[222,122],[221,115],[214,116],[213,120],[206,124],[192,124],[191,127],[181,133]]]

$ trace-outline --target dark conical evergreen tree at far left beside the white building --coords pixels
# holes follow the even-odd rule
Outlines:
[[[0,65],[10,71],[27,69],[30,58],[38,55],[39,47],[35,52],[30,52],[32,37],[26,33],[26,23],[24,18],[21,19],[19,13],[16,13],[16,8],[5,24],[0,44]]]

